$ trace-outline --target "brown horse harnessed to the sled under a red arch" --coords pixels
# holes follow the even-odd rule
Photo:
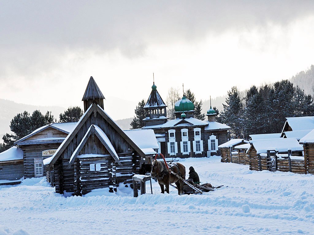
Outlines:
[[[179,176],[181,176],[183,179],[185,179],[185,166],[180,163],[173,163],[168,165],[169,168]],[[157,178],[158,183],[161,188],[161,193],[165,193],[165,187],[166,186],[166,192],[169,193],[169,184],[175,183],[178,189],[178,194],[183,194],[183,181],[180,180],[178,177],[176,177],[173,174],[170,174],[165,163],[161,161],[154,160],[152,164],[152,170],[150,172],[150,177]]]

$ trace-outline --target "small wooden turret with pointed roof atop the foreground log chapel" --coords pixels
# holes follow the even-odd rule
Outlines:
[[[93,77],[89,78],[82,101],[84,102],[84,112],[95,102],[104,109],[104,95],[101,93]]]

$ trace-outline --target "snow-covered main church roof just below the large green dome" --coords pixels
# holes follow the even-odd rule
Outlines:
[[[207,121],[202,121],[196,118],[176,118],[173,120],[169,120],[164,124],[153,125],[153,126],[145,126],[142,129],[151,129],[151,128],[171,128],[171,127],[185,127],[185,126],[206,126],[208,125]]]

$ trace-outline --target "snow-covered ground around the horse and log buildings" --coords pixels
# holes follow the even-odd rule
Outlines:
[[[114,196],[65,197],[44,178],[26,179],[0,186],[0,234],[314,234],[314,175],[250,171],[219,157],[179,162],[203,183],[228,187],[163,195],[153,181],[153,195],[138,198],[123,185]]]

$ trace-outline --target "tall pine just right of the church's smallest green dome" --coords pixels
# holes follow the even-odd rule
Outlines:
[[[224,110],[221,112],[223,123],[231,127],[231,138],[243,138],[243,104],[240,98],[240,92],[236,86],[228,91],[226,104],[223,104]]]

